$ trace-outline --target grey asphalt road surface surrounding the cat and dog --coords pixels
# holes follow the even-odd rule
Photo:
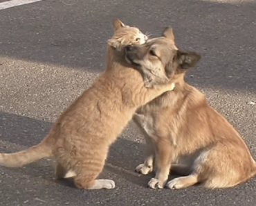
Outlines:
[[[239,130],[256,158],[256,2],[232,0],[46,0],[0,10],[0,151],[37,144],[91,85],[104,69],[116,17],[152,36],[172,26],[181,49],[201,53],[186,80]],[[0,205],[256,205],[256,178],[232,189],[147,188],[152,175],[134,172],[143,148],[131,122],[100,175],[116,182],[113,190],[55,182],[51,160],[0,167]]]

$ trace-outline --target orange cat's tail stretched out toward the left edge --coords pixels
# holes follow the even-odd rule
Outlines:
[[[24,151],[10,154],[0,153],[0,165],[20,167],[41,160],[44,157],[51,157],[53,155],[51,145],[47,144],[45,140],[46,138],[36,146],[32,146]]]

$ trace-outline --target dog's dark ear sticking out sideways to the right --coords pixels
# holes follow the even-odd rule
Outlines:
[[[176,60],[179,65],[179,69],[190,69],[194,67],[201,59],[201,55],[195,52],[177,51]]]

